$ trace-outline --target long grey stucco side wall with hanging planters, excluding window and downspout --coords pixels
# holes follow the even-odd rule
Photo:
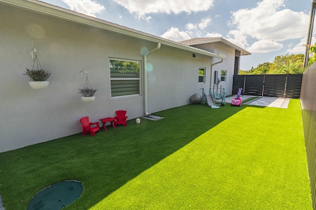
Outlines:
[[[0,20],[0,152],[80,133],[84,116],[95,122],[114,117],[119,109],[127,111],[128,120],[144,115],[143,94],[111,98],[109,58],[143,62],[140,49],[151,50],[157,43],[2,3]],[[41,67],[51,72],[46,89],[33,90],[23,75],[33,66],[34,48]],[[148,111],[189,104],[192,94],[208,90],[212,60],[164,45],[148,55],[153,65],[148,71]],[[205,83],[198,83],[199,67],[206,68]],[[92,103],[80,99],[85,82],[80,71],[87,71],[91,86],[98,89]]]

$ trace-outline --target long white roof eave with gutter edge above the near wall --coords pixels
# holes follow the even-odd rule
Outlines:
[[[117,25],[114,23],[110,23],[110,22],[107,22],[107,21],[104,21],[101,19],[90,17],[90,16],[87,16],[87,15],[84,15],[84,14],[81,14],[78,12],[74,12],[74,11],[71,11],[68,9],[54,6],[54,5],[51,5],[51,4],[42,2],[42,1],[38,1],[38,0],[0,0],[0,2],[14,5],[14,6],[18,6],[18,7],[22,7],[22,8],[25,8],[25,9],[28,9],[31,11],[35,11],[38,13],[58,17],[58,18],[61,18],[64,20],[68,20],[68,21],[96,27],[96,28],[99,28],[102,30],[109,30],[109,31],[120,33],[120,34],[124,34],[124,35],[132,36],[132,37],[136,37],[136,38],[140,38],[140,39],[144,39],[144,40],[148,40],[148,41],[161,43],[163,45],[175,47],[175,48],[190,51],[193,53],[198,53],[198,54],[202,54],[202,55],[206,55],[206,56],[210,56],[210,57],[218,58],[218,59],[226,59],[226,56],[223,54],[218,55],[215,53],[211,53],[211,52],[208,52],[205,50],[201,50],[201,49],[191,47],[191,46],[188,46],[185,44],[174,42],[174,41],[164,39],[164,38],[161,38],[161,37],[158,37],[155,35],[151,35],[149,33],[141,32],[138,30],[133,30],[133,29],[123,27],[123,26],[120,26],[120,25]]]

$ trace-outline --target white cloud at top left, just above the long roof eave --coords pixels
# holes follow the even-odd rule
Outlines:
[[[105,10],[105,7],[92,0],[62,0],[71,10],[96,17],[95,15]]]

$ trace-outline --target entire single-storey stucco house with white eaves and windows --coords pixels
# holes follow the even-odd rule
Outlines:
[[[34,49],[51,73],[46,89],[23,75]],[[226,71],[220,84],[231,94],[240,55],[250,53],[222,38],[177,43],[37,0],[0,0],[0,152],[79,133],[84,116],[126,110],[135,119],[189,104],[215,71]],[[113,76],[115,61],[139,66],[138,76]],[[78,94],[85,71],[97,89],[92,103]]]

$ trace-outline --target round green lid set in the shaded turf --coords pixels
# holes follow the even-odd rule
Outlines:
[[[28,210],[61,210],[77,200],[83,186],[79,181],[67,180],[40,190],[28,204]]]

